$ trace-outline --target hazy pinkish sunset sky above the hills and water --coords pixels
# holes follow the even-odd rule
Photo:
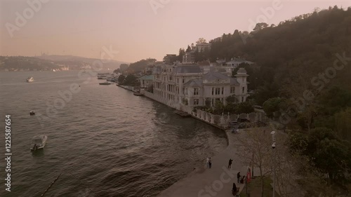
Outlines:
[[[335,5],[347,8],[351,1],[0,0],[0,55],[100,58],[110,50],[107,59],[162,60],[199,38],[251,31],[256,22],[277,25]]]

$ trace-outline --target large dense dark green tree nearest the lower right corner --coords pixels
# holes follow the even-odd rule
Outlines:
[[[310,158],[316,168],[328,175],[330,183],[344,183],[345,172],[350,172],[351,166],[350,142],[340,140],[328,128],[314,128],[307,135],[293,133],[290,139],[291,151]]]

